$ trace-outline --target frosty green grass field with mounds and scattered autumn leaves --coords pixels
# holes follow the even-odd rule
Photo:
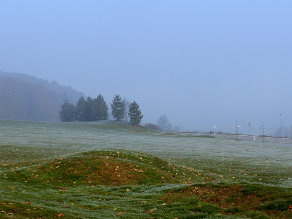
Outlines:
[[[291,149],[125,122],[0,120],[0,218],[292,218]]]

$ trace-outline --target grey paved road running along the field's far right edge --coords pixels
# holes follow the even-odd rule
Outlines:
[[[214,136],[214,134],[205,134],[205,133],[188,133],[188,134],[213,135]],[[234,134],[216,134],[215,136],[236,138],[236,135],[234,135]],[[238,139],[251,140],[251,141],[252,140],[262,141],[262,137],[258,137],[258,136],[252,137],[252,135],[238,135]],[[290,144],[292,144],[292,138],[264,137],[264,141],[267,141],[267,142],[282,142],[282,143],[290,143]]]

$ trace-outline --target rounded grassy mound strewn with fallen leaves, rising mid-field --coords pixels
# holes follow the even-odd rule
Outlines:
[[[196,182],[201,176],[193,169],[142,152],[112,150],[60,157],[38,166],[7,172],[5,177],[17,182],[68,187],[187,184]]]

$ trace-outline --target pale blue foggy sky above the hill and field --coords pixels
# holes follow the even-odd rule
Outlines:
[[[1,1],[0,70],[117,93],[156,123],[292,125],[291,1]]]

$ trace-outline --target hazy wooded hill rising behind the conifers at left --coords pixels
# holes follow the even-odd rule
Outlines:
[[[60,121],[64,100],[76,104],[83,92],[56,81],[0,71],[0,119]]]

